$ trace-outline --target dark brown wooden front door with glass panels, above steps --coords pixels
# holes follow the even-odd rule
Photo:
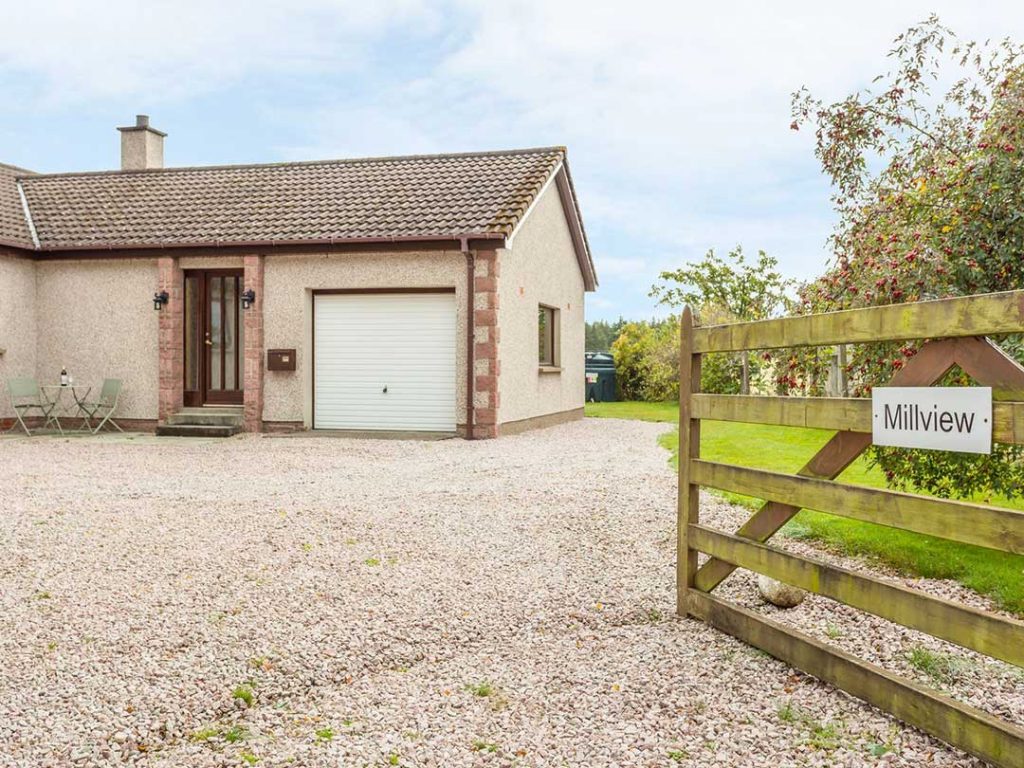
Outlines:
[[[242,270],[185,272],[184,404],[241,404]]]

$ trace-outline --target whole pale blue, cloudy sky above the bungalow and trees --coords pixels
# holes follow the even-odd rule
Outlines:
[[[711,248],[826,267],[829,186],[791,94],[868,85],[933,11],[1024,40],[1020,0],[0,0],[0,162],[117,168],[136,114],[168,166],[565,145],[588,318],[644,318],[658,272]]]

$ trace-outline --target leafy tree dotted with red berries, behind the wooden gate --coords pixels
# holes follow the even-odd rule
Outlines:
[[[841,101],[794,94],[793,128],[813,129],[839,213],[836,262],[802,288],[799,311],[1024,288],[1024,48],[958,41],[933,16],[898,37],[889,59],[889,73]],[[1020,338],[999,342],[1024,360]],[[884,384],[916,349],[851,347],[853,394]],[[820,378],[808,353],[787,361],[787,386]],[[986,457],[876,449],[872,458],[901,487],[956,497],[1024,489],[1024,454],[1014,446]]]

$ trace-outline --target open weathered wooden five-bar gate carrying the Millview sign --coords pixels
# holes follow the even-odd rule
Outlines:
[[[1024,554],[1024,513],[867,488],[836,478],[871,444],[864,398],[701,394],[708,352],[928,340],[888,386],[931,386],[958,366],[992,387],[992,435],[1024,444],[1024,368],[986,336],[1024,332],[1024,291],[728,326],[681,323],[677,611],[767,651],[900,720],[998,766],[1024,766],[1024,730],[712,594],[737,567],[1024,667],[1024,623],[765,544],[811,509]],[[700,458],[700,420],[817,427],[835,436],[796,474]],[[751,445],[768,452],[770,445]],[[701,486],[765,500],[735,532],[700,524]],[[697,553],[709,559],[698,567]]]

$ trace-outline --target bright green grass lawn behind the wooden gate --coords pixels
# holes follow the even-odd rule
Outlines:
[[[587,416],[675,422],[678,408],[675,402],[590,402],[587,403]],[[700,455],[728,464],[796,472],[831,434],[821,429],[705,421],[700,425]],[[678,432],[664,435],[660,443],[672,452],[672,465],[676,466]],[[858,485],[885,487],[882,473],[869,469],[864,459],[854,462],[840,475],[840,479]],[[750,497],[736,494],[723,496],[745,506],[758,504]],[[996,498],[992,503],[1024,509],[1021,500],[1008,502]],[[1024,614],[1024,557],[1020,555],[809,510],[801,512],[782,532],[792,538],[815,540],[837,552],[877,558],[905,573],[955,580],[991,596],[1008,610]]]

